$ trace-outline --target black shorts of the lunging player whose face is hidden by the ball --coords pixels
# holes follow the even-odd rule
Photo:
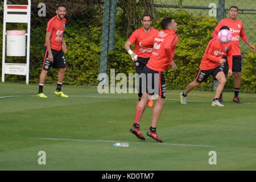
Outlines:
[[[214,69],[210,69],[210,70],[202,70],[200,69],[197,76],[196,76],[196,81],[197,82],[206,82],[207,78],[212,75],[213,78],[215,79],[216,75],[219,72],[223,72],[223,65],[219,65],[218,67],[214,68]]]

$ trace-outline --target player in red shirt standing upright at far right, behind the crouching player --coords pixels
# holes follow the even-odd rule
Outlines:
[[[240,86],[241,86],[241,71],[242,71],[242,56],[240,51],[240,36],[252,51],[255,51],[255,47],[249,42],[249,39],[246,37],[245,32],[243,31],[243,23],[240,20],[237,20],[238,8],[236,6],[231,6],[229,8],[229,18],[222,19],[217,27],[212,33],[212,37],[216,38],[220,28],[222,26],[228,26],[230,32],[232,33],[232,59],[233,59],[233,72],[234,72],[234,98],[233,101],[236,103],[242,103],[238,97]],[[223,57],[226,60],[226,56]],[[228,69],[228,62],[224,63],[224,72]],[[222,96],[221,96],[222,99]]]

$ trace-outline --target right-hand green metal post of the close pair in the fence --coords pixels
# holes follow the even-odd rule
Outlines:
[[[115,19],[117,13],[117,0],[110,0],[110,22],[109,22],[109,51],[113,52],[115,49]]]

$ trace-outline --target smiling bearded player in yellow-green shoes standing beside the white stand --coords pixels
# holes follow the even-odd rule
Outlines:
[[[66,12],[67,11],[65,5],[59,5],[56,10],[57,15],[49,20],[47,24],[46,44],[44,45],[44,63],[39,78],[38,97],[47,98],[47,96],[43,93],[43,86],[44,81],[46,80],[46,75],[51,67],[60,68],[55,94],[60,97],[68,97],[63,92],[61,92],[61,86],[67,69],[65,57],[63,54],[63,51],[64,53],[67,52],[67,47],[63,39],[63,32],[66,24],[66,19],[64,16]]]

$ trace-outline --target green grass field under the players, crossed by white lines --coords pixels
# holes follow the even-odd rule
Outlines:
[[[180,90],[168,90],[157,132],[146,136],[152,109],[141,130],[130,133],[137,94],[98,94],[97,87],[63,86],[69,98],[36,97],[38,84],[0,84],[0,170],[255,170],[256,96],[241,93],[243,104],[224,92],[224,107],[212,107],[213,92],[192,91],[188,104]],[[8,97],[12,96],[12,97]],[[16,97],[13,97],[16,96]],[[114,147],[115,141],[129,147]],[[46,152],[46,165],[38,152]],[[216,151],[217,164],[208,155]]]

